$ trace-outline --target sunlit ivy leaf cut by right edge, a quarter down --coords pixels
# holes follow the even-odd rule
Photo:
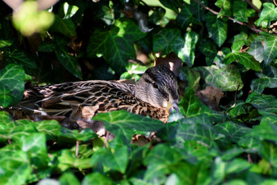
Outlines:
[[[277,8],[276,8],[277,11]],[[277,37],[271,33],[260,33],[263,37],[265,37],[265,47],[264,47],[264,61],[265,64],[270,64],[272,60],[277,57]]]

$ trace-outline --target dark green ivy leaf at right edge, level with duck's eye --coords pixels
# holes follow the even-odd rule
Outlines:
[[[266,87],[276,88],[277,78],[268,78],[268,77],[256,78],[252,80],[250,87],[253,92],[257,92],[258,94],[261,94]]]

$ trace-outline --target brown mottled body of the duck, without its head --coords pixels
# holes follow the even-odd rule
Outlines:
[[[92,80],[28,89],[17,106],[34,113],[90,121],[100,112],[125,109],[166,122],[166,109],[145,103],[133,94],[134,85]]]

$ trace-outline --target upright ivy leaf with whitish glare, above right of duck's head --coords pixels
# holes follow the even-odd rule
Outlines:
[[[193,63],[195,60],[195,45],[198,41],[198,34],[190,31],[184,35],[184,45],[179,46],[181,44],[181,40],[179,37],[175,37],[172,43],[172,50],[178,55],[178,57],[183,60],[188,67],[193,67]]]

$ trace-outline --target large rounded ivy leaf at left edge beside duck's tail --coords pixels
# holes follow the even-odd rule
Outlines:
[[[19,102],[24,92],[24,70],[15,65],[8,64],[0,71],[0,105],[8,107]]]

